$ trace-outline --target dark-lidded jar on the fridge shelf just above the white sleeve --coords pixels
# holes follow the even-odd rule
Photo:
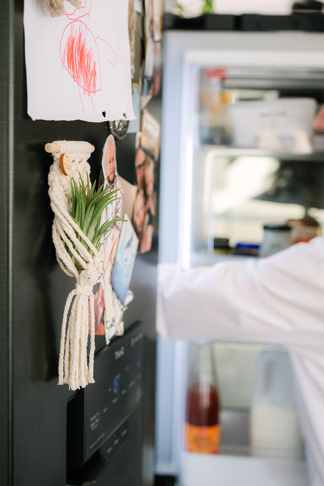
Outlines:
[[[291,227],[288,225],[264,225],[260,257],[269,257],[291,245]]]

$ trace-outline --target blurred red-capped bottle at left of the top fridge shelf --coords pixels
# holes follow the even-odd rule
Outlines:
[[[199,136],[202,144],[229,145],[232,121],[230,95],[223,88],[225,69],[205,69],[200,96]]]

